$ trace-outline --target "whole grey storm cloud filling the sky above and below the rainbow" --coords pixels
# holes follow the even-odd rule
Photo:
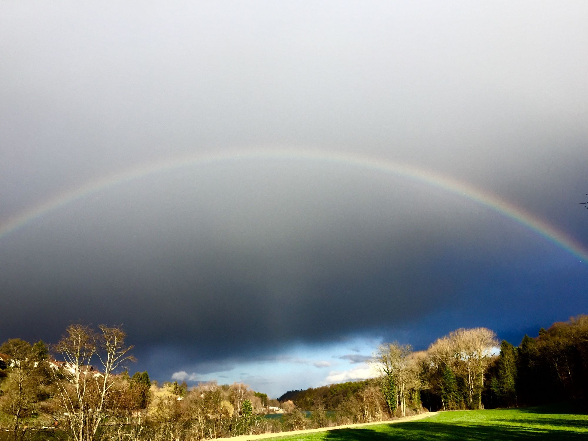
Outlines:
[[[145,162],[303,146],[456,176],[588,245],[587,6],[537,5],[0,2],[0,222]],[[306,161],[104,189],[1,238],[0,260],[0,336],[122,323],[168,378],[588,308],[586,266],[512,220]]]

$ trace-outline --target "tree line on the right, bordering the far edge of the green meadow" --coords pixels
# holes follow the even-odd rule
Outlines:
[[[315,402],[352,422],[423,410],[493,409],[588,397],[588,316],[541,328],[519,346],[486,328],[457,329],[427,350],[386,343],[374,355],[375,379],[292,390],[301,409]],[[376,394],[372,389],[377,389]],[[373,397],[369,403],[366,397]],[[383,407],[383,409],[382,409]],[[355,410],[353,410],[355,408]]]

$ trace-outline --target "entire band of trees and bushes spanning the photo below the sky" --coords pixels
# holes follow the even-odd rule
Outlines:
[[[519,346],[486,328],[458,329],[427,350],[380,346],[379,375],[292,390],[279,400],[243,383],[159,385],[119,328],[71,325],[57,345],[0,346],[2,437],[74,441],[188,440],[371,422],[426,410],[517,407],[588,397],[588,316],[554,323]],[[96,363],[96,364],[94,364]],[[280,409],[281,407],[281,409]],[[266,415],[283,412],[279,419]],[[302,410],[310,411],[307,413]],[[329,412],[330,411],[330,412]],[[329,413],[328,413],[329,412]]]

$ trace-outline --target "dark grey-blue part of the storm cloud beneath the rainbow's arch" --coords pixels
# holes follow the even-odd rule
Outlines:
[[[26,240],[6,238],[2,289],[19,295],[5,305],[27,306],[2,326],[55,339],[68,319],[123,323],[143,366],[168,376],[250,359],[310,364],[279,352],[444,309],[516,307],[517,285],[529,286],[553,246],[472,208],[425,186],[312,164],[136,182],[49,216]],[[542,245],[544,257],[529,262]],[[582,269],[570,270],[574,279]],[[553,279],[542,272],[534,285]],[[23,329],[24,316],[35,326]]]

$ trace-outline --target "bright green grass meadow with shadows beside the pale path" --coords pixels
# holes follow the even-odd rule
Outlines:
[[[309,441],[588,440],[588,415],[572,405],[463,410],[406,423],[272,438]]]

